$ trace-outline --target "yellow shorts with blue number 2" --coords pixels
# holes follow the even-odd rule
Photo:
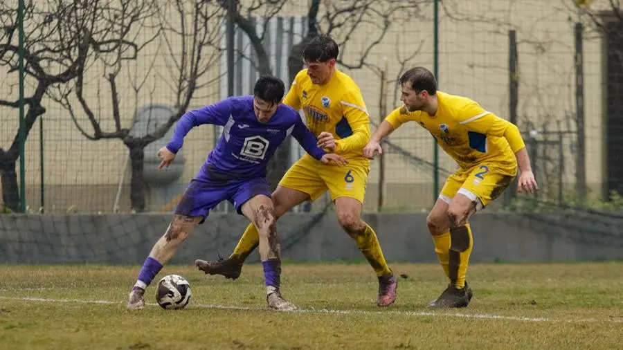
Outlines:
[[[485,208],[498,198],[517,175],[517,167],[500,163],[480,163],[474,167],[460,168],[451,174],[439,198],[450,203],[460,193],[476,201],[476,210]]]

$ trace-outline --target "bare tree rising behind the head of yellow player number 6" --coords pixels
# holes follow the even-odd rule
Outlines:
[[[269,20],[280,12],[290,0],[253,0],[249,7],[242,6],[237,2],[234,14],[235,23],[249,38],[249,42],[255,53],[255,60],[251,62],[260,74],[271,73],[269,55],[262,45],[269,28]],[[294,0],[291,0],[294,1]],[[226,8],[227,1],[221,1]],[[300,2],[292,2],[299,4]],[[363,68],[368,60],[370,52],[385,37],[392,24],[400,19],[406,19],[419,10],[419,5],[426,1],[408,0],[350,0],[350,1],[322,1],[310,0],[307,8],[307,33],[303,39],[292,46],[288,58],[288,76],[294,80],[296,73],[303,68],[301,54],[309,41],[319,33],[332,35],[340,46],[338,64],[349,69]],[[246,13],[246,16],[243,15]],[[263,26],[259,30],[251,17],[262,17]],[[354,35],[361,30],[370,30],[374,37],[368,38],[363,47],[357,48],[358,55],[354,59],[345,59],[345,53],[352,45]],[[242,55],[242,53],[239,53]],[[279,147],[275,156],[269,163],[268,180],[276,187],[280,178],[287,170],[289,158],[289,142]]]

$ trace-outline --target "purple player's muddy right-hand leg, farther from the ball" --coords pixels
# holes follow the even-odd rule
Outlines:
[[[268,185],[267,185],[268,189]],[[242,205],[242,214],[255,225],[260,237],[260,260],[264,268],[267,302],[273,309],[294,311],[296,306],[281,295],[281,247],[277,234],[275,208],[269,196],[260,194]]]

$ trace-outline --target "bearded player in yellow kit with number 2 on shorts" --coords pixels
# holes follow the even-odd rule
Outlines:
[[[471,214],[485,208],[514,180],[519,167],[518,192],[537,186],[521,133],[515,125],[485,111],[469,98],[437,91],[433,73],[410,69],[400,77],[404,107],[392,111],[363,149],[374,158],[379,142],[404,122],[415,121],[428,130],[460,168],[449,176],[426,223],[435,252],[450,283],[429,307],[464,307],[472,292],[465,282],[472,248]]]

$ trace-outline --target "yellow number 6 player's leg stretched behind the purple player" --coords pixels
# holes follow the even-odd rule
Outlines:
[[[316,160],[309,156],[300,158],[285,174],[275,192],[272,194],[277,219],[288,212],[295,205],[311,199],[316,200],[327,187],[318,176]],[[228,259],[212,261],[197,260],[195,264],[199,270],[210,275],[223,275],[226,278],[236,279],[240,276],[242,264],[247,257],[258,247],[260,238],[258,230],[250,223],[240,237],[236,248]]]

